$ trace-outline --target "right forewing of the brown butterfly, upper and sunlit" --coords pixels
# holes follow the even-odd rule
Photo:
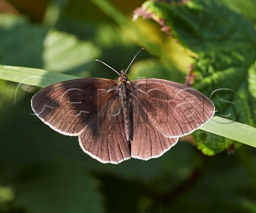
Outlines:
[[[133,124],[153,125],[163,136],[177,138],[203,126],[214,115],[214,105],[191,87],[162,79],[132,81]]]

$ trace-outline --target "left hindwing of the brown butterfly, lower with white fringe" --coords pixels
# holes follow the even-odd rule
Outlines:
[[[103,163],[117,164],[130,159],[130,142],[126,140],[123,118],[120,97],[111,98],[99,111],[98,118],[90,120],[89,126],[95,127],[93,132],[85,128],[79,135],[84,152]]]

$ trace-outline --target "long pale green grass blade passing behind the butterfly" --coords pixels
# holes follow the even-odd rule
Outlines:
[[[0,79],[39,87],[77,78],[41,69],[0,65]],[[256,148],[256,128],[249,125],[215,116],[201,129]]]

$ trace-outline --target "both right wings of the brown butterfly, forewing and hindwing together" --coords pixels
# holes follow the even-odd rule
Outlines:
[[[133,158],[157,158],[209,121],[214,105],[196,89],[162,79],[131,83],[133,103]]]

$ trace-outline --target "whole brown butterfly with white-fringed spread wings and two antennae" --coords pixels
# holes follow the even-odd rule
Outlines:
[[[97,60],[117,72],[118,81],[63,81],[37,92],[31,107],[55,131],[78,136],[82,150],[102,163],[158,158],[179,137],[206,124],[214,104],[196,89],[173,81],[129,80],[126,71],[133,60],[121,73]]]

